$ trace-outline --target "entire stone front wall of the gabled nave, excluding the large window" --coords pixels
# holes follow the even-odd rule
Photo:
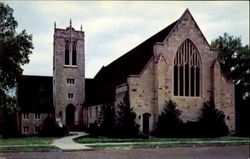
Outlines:
[[[179,46],[190,39],[201,57],[201,95],[199,97],[174,96],[173,94],[173,63]],[[174,31],[166,37],[163,43],[157,43],[154,47],[155,57],[144,68],[140,75],[128,78],[130,104],[137,114],[137,122],[141,125],[142,115],[151,114],[150,131],[155,129],[157,117],[162,112],[166,100],[172,99],[182,111],[183,121],[197,121],[201,116],[204,102],[212,97],[212,89],[215,91],[215,104],[225,112],[226,123],[230,130],[234,130],[234,85],[222,78],[221,73],[215,73],[215,81],[211,81],[211,67],[217,58],[217,52],[213,51],[205,37],[200,32],[189,12],[182,17]]]

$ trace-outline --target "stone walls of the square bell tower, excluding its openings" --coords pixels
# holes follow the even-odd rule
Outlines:
[[[77,66],[65,65],[66,40],[77,42]],[[71,53],[69,58],[71,63]],[[85,101],[84,32],[75,31],[72,27],[55,29],[53,59],[53,100],[56,118],[57,120],[60,119],[65,125],[66,107],[72,104],[76,108],[75,125],[78,125],[82,120],[82,104]],[[73,78],[75,80],[74,84],[67,84],[67,78]],[[68,93],[73,93],[73,99],[68,98]]]

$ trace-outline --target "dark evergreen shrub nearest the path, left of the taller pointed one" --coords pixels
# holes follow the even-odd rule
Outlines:
[[[101,105],[97,123],[100,135],[113,136],[115,134],[115,109],[113,104]]]

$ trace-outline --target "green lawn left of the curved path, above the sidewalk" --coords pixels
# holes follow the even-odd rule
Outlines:
[[[56,137],[20,137],[20,138],[0,138],[0,145],[48,145]]]

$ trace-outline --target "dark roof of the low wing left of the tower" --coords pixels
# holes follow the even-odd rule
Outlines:
[[[53,86],[50,76],[22,75],[17,81],[17,104],[21,112],[52,113]]]

